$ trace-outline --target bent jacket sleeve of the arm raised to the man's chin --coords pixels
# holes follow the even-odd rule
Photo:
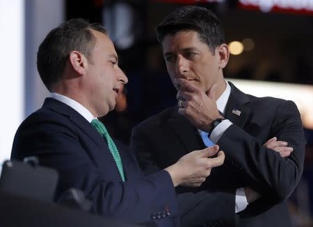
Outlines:
[[[298,184],[305,158],[303,126],[294,102],[284,101],[278,108],[271,125],[270,137],[273,136],[294,148],[289,157],[282,158],[278,152],[266,149],[259,140],[234,124],[227,128],[218,144],[227,158],[250,178],[250,187],[264,195],[273,192],[281,201],[287,199]]]

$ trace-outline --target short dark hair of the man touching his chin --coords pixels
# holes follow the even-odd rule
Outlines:
[[[195,31],[199,39],[208,45],[212,53],[225,42],[222,23],[211,10],[200,6],[177,8],[157,26],[157,38],[162,43],[166,35],[179,31]]]

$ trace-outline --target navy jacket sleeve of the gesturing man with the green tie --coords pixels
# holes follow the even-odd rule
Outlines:
[[[38,121],[19,128],[11,158],[22,160],[30,155],[38,156],[40,165],[58,171],[56,199],[69,188],[78,188],[99,215],[131,222],[177,219],[177,199],[167,171],[138,174],[124,183],[104,175],[87,155],[77,132],[60,122]]]

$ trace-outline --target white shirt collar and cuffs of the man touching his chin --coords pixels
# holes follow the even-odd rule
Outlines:
[[[230,97],[230,85],[227,81],[226,83],[226,89],[223,92],[222,95],[218,98],[216,101],[216,106],[220,112],[223,112],[225,114],[225,107],[227,104],[227,101]],[[223,135],[223,133],[226,131],[226,129],[232,125],[232,122],[228,119],[223,120],[214,128],[214,130],[211,132],[210,140],[216,144],[220,137]],[[243,190],[243,187],[236,190],[236,199],[235,199],[235,212],[241,212],[241,210],[246,209],[248,205],[248,201],[246,198],[245,191]]]

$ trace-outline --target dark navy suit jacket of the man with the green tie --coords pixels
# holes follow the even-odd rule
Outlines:
[[[129,222],[155,221],[177,226],[172,180],[161,170],[143,176],[136,158],[118,144],[127,178],[122,183],[106,141],[76,110],[47,98],[40,110],[19,126],[11,158],[36,155],[40,165],[58,170],[56,199],[69,188],[83,190],[93,212]]]

